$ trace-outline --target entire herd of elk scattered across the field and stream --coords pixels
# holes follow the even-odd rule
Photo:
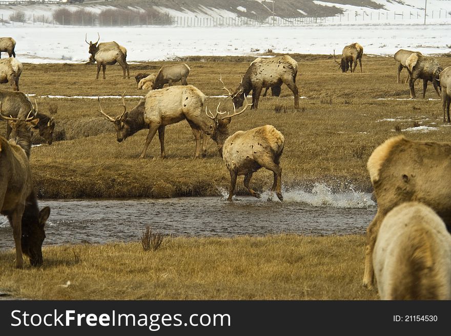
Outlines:
[[[127,49],[115,41],[99,43],[100,35],[89,44],[89,61],[97,64],[106,78],[106,65],[118,63],[123,78],[130,78]],[[42,244],[45,223],[50,208],[39,211],[29,164],[31,130],[50,145],[55,121],[38,111],[37,103],[19,91],[22,64],[15,58],[16,42],[10,37],[0,38],[0,83],[9,82],[13,91],[0,90],[0,119],[6,121],[6,138],[0,137],[0,210],[13,228],[16,267],[23,267],[23,254],[32,265],[43,262]],[[355,72],[357,62],[362,71],[363,47],[359,43],[345,46],[338,63],[343,73]],[[420,52],[399,50],[394,55],[398,64],[397,81],[405,68],[411,98],[415,98],[415,81],[423,80],[423,98],[430,81],[442,98],[443,122],[450,122],[451,67],[442,70],[434,57]],[[101,107],[99,114],[112,122],[116,139],[122,142],[141,129],[148,129],[139,158],[158,132],[161,158],[165,158],[165,128],[186,120],[195,138],[195,158],[206,155],[206,136],[216,143],[219,155],[230,172],[228,200],[232,200],[237,177],[244,175],[244,187],[254,197],[260,194],[250,186],[254,172],[266,168],[273,172],[271,188],[279,200],[281,193],[280,159],[285,145],[282,133],[273,125],[257,126],[230,133],[232,119],[250,108],[257,110],[262,89],[263,97],[269,88],[273,96],[280,95],[285,84],[299,108],[296,85],[298,63],[289,55],[254,60],[242,74],[235,89],[228,89],[218,78],[233,105],[221,110],[221,102],[214,112],[206,105],[206,95],[188,84],[190,67],[186,63],[164,65],[156,73],[135,76],[137,89],[148,91],[129,111],[122,94],[122,112],[111,117]],[[406,80],[406,82],[407,82]],[[180,82],[180,85],[173,85]],[[164,87],[165,84],[169,86]],[[441,93],[439,92],[439,89]],[[248,96],[252,91],[252,102]],[[237,111],[237,108],[240,110]],[[206,122],[203,114],[211,120]],[[11,136],[11,140],[8,140]],[[377,199],[378,210],[367,228],[363,285],[377,283],[381,299],[451,299],[451,144],[409,141],[396,137],[377,147],[367,161],[367,169]],[[448,196],[450,198],[448,199]],[[375,282],[376,280],[376,282]]]

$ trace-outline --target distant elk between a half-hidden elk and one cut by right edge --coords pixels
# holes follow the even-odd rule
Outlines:
[[[432,82],[435,92],[440,97],[438,85],[440,84],[439,75],[442,67],[434,57],[423,56],[418,53],[413,53],[405,60],[405,65],[409,73],[409,87],[411,90],[411,98],[415,98],[415,81],[420,78],[423,80],[423,99],[426,95],[427,82]]]

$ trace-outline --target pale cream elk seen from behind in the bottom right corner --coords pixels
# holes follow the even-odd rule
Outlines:
[[[387,213],[373,265],[381,300],[451,299],[451,235],[424,204],[406,202]]]

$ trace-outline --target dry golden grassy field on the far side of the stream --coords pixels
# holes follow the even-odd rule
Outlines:
[[[292,93],[283,86],[280,98],[261,98],[257,111],[246,111],[234,118],[230,126],[234,132],[272,124],[284,134],[282,188],[308,190],[319,182],[334,191],[353,186],[368,192],[372,187],[366,161],[385,139],[400,132],[411,139],[449,139],[451,128],[442,124],[441,102],[431,85],[425,100],[379,100],[409,97],[408,85],[396,83],[393,58],[364,55],[363,73],[342,74],[331,56],[293,57],[299,64],[300,96],[306,97],[300,99],[300,109],[294,110]],[[228,87],[235,87],[252,59],[188,58],[185,60],[191,67],[188,82],[207,96],[222,95],[219,75]],[[442,57],[439,62],[445,68],[451,64],[451,58]],[[157,71],[169,63],[131,64],[131,75]],[[95,66],[84,64],[25,64],[20,88],[37,96],[145,94],[136,89],[134,78],[122,79],[118,65],[107,67],[106,80],[95,80],[95,71]],[[9,89],[7,85],[2,88]],[[419,97],[421,90],[422,85],[417,85]],[[231,101],[224,98],[207,98],[207,106],[214,109],[219,100],[222,108],[232,109]],[[102,99],[101,103],[107,113],[115,116],[121,112],[119,102]],[[138,98],[127,99],[128,109],[137,102]],[[157,137],[146,158],[139,160],[147,130],[118,143],[112,124],[100,117],[95,99],[37,98],[37,103],[44,113],[52,111],[57,124],[56,138],[66,139],[32,150],[33,177],[40,198],[212,196],[218,195],[217,187],[229,185],[229,173],[211,139],[207,141],[207,158],[193,158],[194,137],[185,121],[167,127],[166,160],[158,159]],[[397,121],[383,120],[396,118]],[[402,131],[418,125],[438,130]],[[0,126],[4,134],[6,125]],[[237,192],[246,194],[240,181]],[[257,190],[267,190],[271,184],[271,172],[260,170],[254,175],[252,185]]]

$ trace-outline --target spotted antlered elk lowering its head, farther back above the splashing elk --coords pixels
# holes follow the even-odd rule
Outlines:
[[[284,83],[294,95],[294,107],[299,108],[299,90],[296,86],[296,75],[298,73],[298,63],[290,56],[276,56],[253,62],[243,78],[238,88],[231,93],[228,89],[229,97],[236,107],[243,105],[244,96],[252,91],[251,109],[258,108],[263,87],[280,86]],[[225,86],[223,88],[226,88]]]

